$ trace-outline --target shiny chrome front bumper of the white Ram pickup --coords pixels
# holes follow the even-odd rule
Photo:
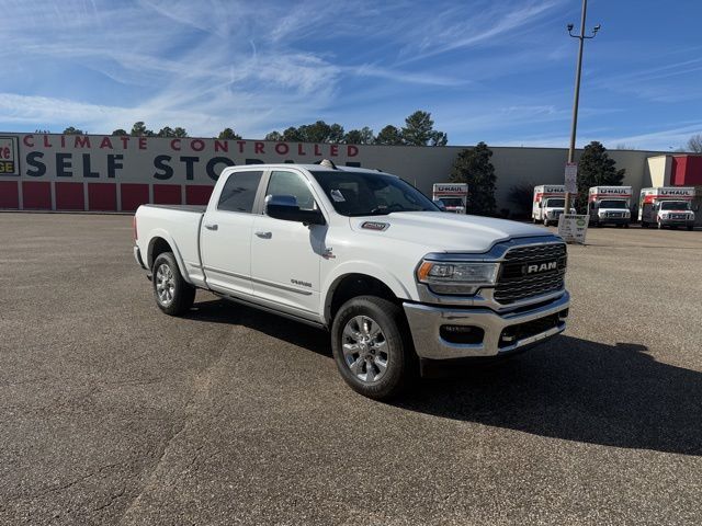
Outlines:
[[[559,298],[521,312],[499,315],[490,309],[437,307],[423,304],[404,304],[405,315],[419,357],[429,359],[464,358],[469,356],[497,356],[518,348],[534,345],[563,332],[566,328],[565,310],[570,305],[570,296],[564,293]],[[511,325],[526,323],[553,315],[558,317],[555,327],[531,334],[521,340],[500,345],[502,331]],[[485,331],[482,343],[452,343],[440,334],[442,325],[472,325]]]

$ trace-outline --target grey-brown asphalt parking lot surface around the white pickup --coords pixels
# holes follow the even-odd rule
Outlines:
[[[570,325],[383,404],[131,217],[0,214],[0,524],[702,524],[702,231],[593,229]]]

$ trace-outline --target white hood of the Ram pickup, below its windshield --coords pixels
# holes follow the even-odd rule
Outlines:
[[[552,236],[544,228],[523,222],[443,211],[403,211],[351,217],[350,221],[353,230],[422,244],[431,252],[486,252],[499,241]]]

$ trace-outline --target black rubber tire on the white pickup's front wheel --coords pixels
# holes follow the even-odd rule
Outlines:
[[[344,329],[348,324],[353,328],[358,317],[366,317],[371,322],[377,324],[385,345],[378,347],[380,351],[375,351],[371,344],[365,350],[359,348],[359,353],[352,354],[350,352],[346,356],[343,344],[352,344],[354,341],[344,334]],[[365,327],[366,334],[371,329],[373,325],[369,323]],[[362,335],[361,331],[358,334]],[[359,296],[341,306],[331,324],[331,350],[341,378],[351,389],[374,400],[390,400],[397,397],[418,376],[419,362],[412,347],[403,309],[392,301],[376,296]],[[373,356],[367,355],[366,358],[363,358],[363,352],[373,353]],[[386,368],[381,375],[382,369],[374,364],[375,359],[382,362],[383,356]],[[353,361],[354,365],[360,364],[356,368],[358,374],[367,376],[370,370],[378,379],[364,380],[359,378],[356,373],[351,370],[352,365],[347,362],[347,357],[349,361]]]

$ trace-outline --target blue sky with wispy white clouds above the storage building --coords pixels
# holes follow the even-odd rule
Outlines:
[[[567,146],[579,0],[0,0],[0,129],[135,121],[245,138],[324,119]],[[702,133],[702,2],[590,0],[578,145]]]

